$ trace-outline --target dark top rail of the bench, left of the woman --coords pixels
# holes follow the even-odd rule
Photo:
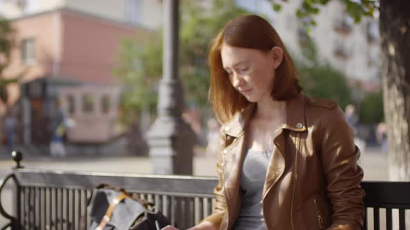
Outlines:
[[[56,172],[22,169],[16,172],[22,186],[49,186],[56,188],[86,188],[105,183],[126,189],[168,195],[195,194],[213,196],[218,183],[214,177],[158,176],[101,172]]]

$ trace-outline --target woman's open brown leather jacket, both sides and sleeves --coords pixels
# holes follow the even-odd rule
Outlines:
[[[244,127],[254,107],[221,128],[216,207],[205,219],[220,229],[232,229],[240,211]],[[289,100],[282,131],[273,141],[262,200],[269,230],[362,229],[360,152],[334,101],[303,95]]]

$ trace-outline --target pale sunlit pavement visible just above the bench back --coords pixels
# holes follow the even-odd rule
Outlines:
[[[194,175],[216,176],[216,158],[203,157],[200,154],[194,157]],[[99,172],[129,172],[152,173],[149,157],[135,156],[69,156],[49,157],[44,155],[24,154],[22,165],[26,168],[42,168],[50,170],[75,170]],[[359,165],[364,170],[365,180],[388,180],[388,158],[379,148],[367,148],[361,154]],[[10,154],[0,157],[0,177],[15,166]]]

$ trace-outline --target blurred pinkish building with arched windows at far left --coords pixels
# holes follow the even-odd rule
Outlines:
[[[75,123],[67,131],[67,141],[110,141],[119,134],[115,123],[121,87],[112,72],[121,41],[133,38],[143,44],[154,30],[117,20],[114,13],[102,17],[103,7],[97,8],[100,16],[74,9],[76,4],[84,7],[83,1],[27,2],[39,4],[28,5],[25,11],[17,8],[18,1],[0,5],[17,31],[17,46],[4,76],[26,72],[19,85],[8,89],[9,103],[17,105],[22,123],[22,142],[47,145],[59,110]]]

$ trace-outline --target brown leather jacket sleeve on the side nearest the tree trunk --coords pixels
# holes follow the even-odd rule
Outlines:
[[[363,170],[357,165],[360,150],[353,138],[341,108],[329,109],[322,121],[322,166],[334,212],[331,230],[356,230],[363,226]]]

